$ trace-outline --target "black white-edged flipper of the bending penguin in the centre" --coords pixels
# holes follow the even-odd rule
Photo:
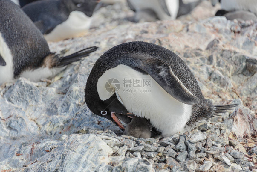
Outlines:
[[[173,73],[169,64],[157,58],[148,58],[137,64],[136,67],[152,76],[176,100],[188,105],[195,105],[200,102],[200,99],[193,95]]]

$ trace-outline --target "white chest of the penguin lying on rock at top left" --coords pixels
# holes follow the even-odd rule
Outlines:
[[[47,41],[59,41],[78,37],[89,29],[91,19],[81,11],[72,11],[66,21],[57,25],[49,34],[44,35],[45,39]]]

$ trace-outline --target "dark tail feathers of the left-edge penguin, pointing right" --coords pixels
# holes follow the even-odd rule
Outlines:
[[[89,47],[89,48],[85,48],[85,49],[82,49],[78,52],[75,52],[71,55],[67,55],[67,56],[64,56],[64,57],[59,57],[59,55],[56,55],[56,63],[55,63],[55,67],[64,67],[72,62],[75,62],[75,61],[78,61],[80,60],[81,58],[83,57],[86,57],[88,56],[91,52],[94,52],[98,49],[98,47],[96,46],[92,46],[92,47]]]

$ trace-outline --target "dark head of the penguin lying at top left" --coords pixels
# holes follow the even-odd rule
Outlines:
[[[82,11],[88,17],[93,15],[93,11],[100,0],[63,0],[71,11]]]

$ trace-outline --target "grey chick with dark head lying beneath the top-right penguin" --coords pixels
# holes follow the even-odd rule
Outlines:
[[[227,20],[257,20],[257,16],[254,13],[244,10],[236,10],[236,11],[226,11],[226,10],[218,10],[215,16],[224,16]]]

